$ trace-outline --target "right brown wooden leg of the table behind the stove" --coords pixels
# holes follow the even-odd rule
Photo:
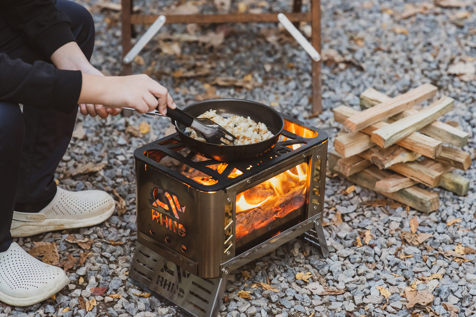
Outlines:
[[[321,54],[321,1],[311,0],[312,46]],[[312,109],[311,112],[322,112],[321,96],[321,62],[312,61]]]

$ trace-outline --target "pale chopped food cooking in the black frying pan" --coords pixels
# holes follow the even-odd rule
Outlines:
[[[264,123],[256,123],[251,120],[250,117],[244,118],[240,116],[232,116],[229,118],[223,118],[222,116],[216,114],[216,110],[210,109],[210,111],[206,111],[198,118],[208,118],[214,123],[224,127],[228,132],[235,135],[238,139],[238,141],[235,142],[235,145],[261,142],[271,138],[273,135]],[[197,132],[195,132],[195,130],[190,127],[187,127],[185,132],[190,133],[190,137],[196,140],[206,142],[204,138],[199,136]]]

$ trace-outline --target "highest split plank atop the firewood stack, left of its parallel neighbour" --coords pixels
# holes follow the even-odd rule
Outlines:
[[[410,109],[415,104],[432,98],[436,95],[438,88],[431,84],[424,84],[409,92],[382,102],[372,108],[366,109],[355,116],[345,120],[344,128],[347,131],[360,131],[369,127],[382,119],[392,117],[400,112]]]

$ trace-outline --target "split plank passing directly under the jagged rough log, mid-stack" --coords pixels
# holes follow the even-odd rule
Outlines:
[[[358,156],[363,159],[372,160],[372,154],[372,151],[367,150],[358,154]],[[441,172],[437,172],[429,167],[425,167],[416,161],[396,163],[390,166],[388,169],[391,169],[394,172],[402,174],[405,177],[430,187],[437,187],[440,185],[440,181],[442,179]]]

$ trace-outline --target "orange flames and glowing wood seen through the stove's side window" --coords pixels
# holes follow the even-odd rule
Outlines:
[[[237,195],[240,239],[300,208],[306,200],[307,163],[301,163]]]

